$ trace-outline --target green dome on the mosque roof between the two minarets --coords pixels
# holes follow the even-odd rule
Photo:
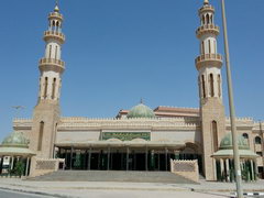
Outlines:
[[[140,103],[129,111],[128,118],[155,118],[155,113],[147,106]]]

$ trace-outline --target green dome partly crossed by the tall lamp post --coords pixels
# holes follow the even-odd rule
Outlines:
[[[239,143],[239,150],[250,150],[248,141],[241,134],[238,134],[238,143]],[[233,146],[232,134],[228,133],[221,140],[220,150],[230,150],[232,148],[232,146]]]

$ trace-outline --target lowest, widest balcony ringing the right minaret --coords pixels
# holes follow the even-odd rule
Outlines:
[[[202,54],[198,56],[195,61],[197,70],[199,70],[201,67],[205,67],[205,66],[221,68],[222,63],[223,63],[223,59],[221,54]]]

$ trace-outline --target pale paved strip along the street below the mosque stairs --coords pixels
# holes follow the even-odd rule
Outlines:
[[[243,184],[245,191],[264,191],[264,180]],[[124,197],[152,198],[230,197],[235,190],[234,184],[200,180],[200,185],[158,184],[158,183],[111,183],[111,182],[31,182],[18,178],[0,178],[0,188],[26,191],[54,197]]]

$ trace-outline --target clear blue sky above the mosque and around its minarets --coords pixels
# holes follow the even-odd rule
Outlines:
[[[221,26],[220,0],[216,23]],[[37,62],[54,0],[1,1],[0,140],[12,118],[30,118],[38,89]],[[195,30],[202,0],[61,0],[64,117],[114,117],[142,97],[147,106],[198,107]],[[227,0],[238,117],[264,120],[264,1]],[[219,52],[223,54],[222,34]],[[226,80],[226,70],[222,72]],[[224,105],[228,112],[227,86]],[[25,106],[15,112],[12,106]]]

